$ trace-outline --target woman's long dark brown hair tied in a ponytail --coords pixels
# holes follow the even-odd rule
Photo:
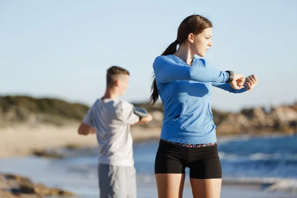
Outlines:
[[[185,18],[177,31],[177,38],[168,48],[162,53],[162,55],[174,54],[176,52],[176,48],[178,44],[183,44],[187,39],[190,33],[195,35],[200,34],[204,29],[212,28],[212,23],[205,17],[200,15],[191,15]],[[159,92],[157,89],[155,76],[151,85],[151,96],[149,101],[152,101],[154,104],[159,98]]]

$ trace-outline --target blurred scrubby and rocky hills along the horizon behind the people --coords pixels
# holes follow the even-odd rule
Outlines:
[[[161,103],[134,103],[151,112],[153,121],[143,128],[160,128],[163,119]],[[32,127],[40,124],[65,126],[77,124],[88,111],[84,104],[69,103],[59,99],[35,99],[26,96],[0,97],[0,128],[17,124]],[[257,134],[280,132],[297,133],[297,101],[293,104],[246,108],[240,112],[222,112],[212,109],[218,135]]]

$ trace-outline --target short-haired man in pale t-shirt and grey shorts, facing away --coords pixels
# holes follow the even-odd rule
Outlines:
[[[107,70],[106,91],[89,109],[78,133],[97,133],[100,148],[100,198],[136,198],[136,170],[134,167],[131,124],[146,124],[152,120],[134,113],[133,104],[119,101],[128,88],[129,72],[112,66]]]

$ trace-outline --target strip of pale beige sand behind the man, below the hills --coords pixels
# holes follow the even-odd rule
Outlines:
[[[77,134],[79,124],[63,127],[53,125],[16,125],[0,129],[0,157],[24,156],[33,150],[74,147],[96,147],[96,135],[81,136]],[[160,136],[159,129],[131,127],[133,140],[142,141]]]

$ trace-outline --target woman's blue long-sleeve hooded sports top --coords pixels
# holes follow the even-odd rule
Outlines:
[[[194,57],[192,66],[175,55],[158,56],[153,62],[157,89],[164,108],[161,138],[188,144],[217,141],[211,112],[212,86],[243,93],[225,83],[229,74]]]

